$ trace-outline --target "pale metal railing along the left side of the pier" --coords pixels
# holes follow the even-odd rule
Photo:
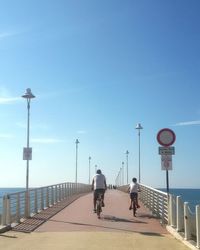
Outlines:
[[[26,191],[6,194],[3,196],[0,224],[7,226],[12,223],[19,223],[22,218],[39,213],[74,194],[90,191],[90,185],[71,182],[29,189],[30,210],[28,214],[25,211]]]

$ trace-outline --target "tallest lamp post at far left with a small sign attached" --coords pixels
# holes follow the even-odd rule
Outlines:
[[[24,148],[23,152],[23,159],[26,160],[26,204],[25,204],[25,214],[26,217],[30,215],[30,200],[29,200],[29,160],[32,159],[32,148],[29,148],[29,137],[30,137],[30,102],[32,98],[35,98],[35,96],[32,94],[31,89],[26,89],[26,93],[22,95],[23,98],[27,100],[27,145],[26,148]]]

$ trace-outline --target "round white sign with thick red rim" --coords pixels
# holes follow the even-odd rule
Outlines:
[[[157,134],[157,141],[164,147],[171,146],[176,140],[174,131],[169,128],[161,129]]]

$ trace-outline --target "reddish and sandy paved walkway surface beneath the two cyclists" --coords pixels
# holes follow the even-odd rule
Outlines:
[[[4,250],[188,250],[141,205],[129,211],[128,194],[108,190],[101,219],[93,213],[92,193],[79,197],[31,233],[0,234]],[[56,211],[56,210],[55,210]]]

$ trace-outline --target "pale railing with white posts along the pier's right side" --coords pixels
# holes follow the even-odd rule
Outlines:
[[[128,185],[118,187],[127,192]],[[181,196],[167,194],[160,190],[140,184],[139,199],[161,223],[173,228],[185,240],[200,248],[200,205],[191,211],[189,203]]]

